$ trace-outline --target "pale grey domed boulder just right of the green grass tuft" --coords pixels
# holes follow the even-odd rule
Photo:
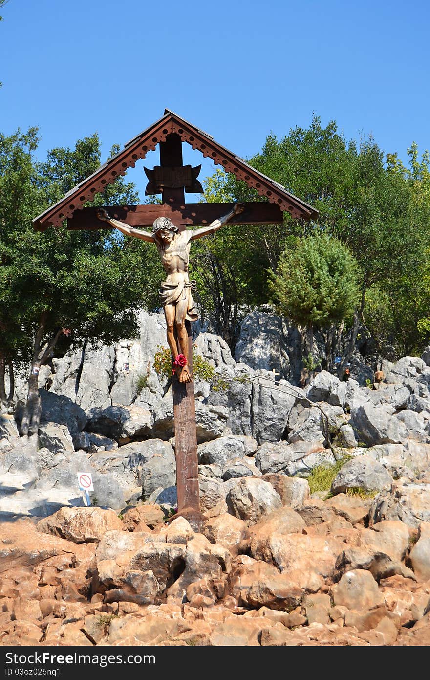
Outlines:
[[[361,488],[364,491],[380,491],[391,486],[393,477],[370,456],[359,456],[348,460],[332,482],[332,493],[346,493],[348,489]]]

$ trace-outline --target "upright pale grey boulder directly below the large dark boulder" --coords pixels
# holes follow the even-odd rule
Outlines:
[[[258,443],[281,439],[297,392],[286,380],[275,385],[274,374],[269,371],[255,373],[251,395],[251,430]]]

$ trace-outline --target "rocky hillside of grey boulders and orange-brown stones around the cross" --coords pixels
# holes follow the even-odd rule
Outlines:
[[[141,326],[41,371],[38,437],[0,416],[1,644],[430,644],[430,350],[303,390],[279,318],[249,315],[234,358],[200,333],[225,387],[196,383],[206,521],[169,524],[165,330]]]

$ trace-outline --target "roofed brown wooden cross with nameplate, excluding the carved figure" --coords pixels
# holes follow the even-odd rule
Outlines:
[[[154,171],[146,171],[149,179],[147,190],[161,192],[161,205],[109,206],[109,216],[125,222],[129,226],[150,226],[159,217],[171,218],[179,231],[187,226],[207,226],[221,215],[227,214],[232,203],[185,203],[185,192],[198,192],[201,186],[197,181],[198,168],[183,166],[182,142],[190,143],[227,172],[266,199],[245,203],[245,210],[234,215],[230,224],[276,224],[283,222],[284,212],[294,218],[309,220],[318,215],[298,197],[293,196],[283,186],[266,177],[245,163],[244,160],[215,142],[211,135],[166,109],[163,118],[130,140],[124,150],[111,158],[105,165],[77,185],[55,205],[33,220],[35,229],[44,231],[48,226],[60,226],[67,220],[69,229],[100,229],[109,227],[98,220],[97,208],[82,207],[91,201],[94,194],[103,191],[107,184],[124,175],[128,167],[134,167],[139,158],[145,158],[149,150],[160,145],[160,166]],[[188,356],[192,369],[191,324],[187,324]],[[275,375],[276,379],[276,375]],[[200,513],[198,486],[198,459],[196,437],[196,407],[194,401],[194,382],[179,382],[173,376],[173,407],[175,418],[175,456],[177,465],[178,513],[199,524]]]

